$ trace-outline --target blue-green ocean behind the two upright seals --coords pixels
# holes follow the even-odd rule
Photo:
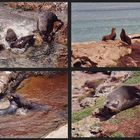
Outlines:
[[[72,3],[72,42],[99,41],[116,27],[140,34],[140,3]]]

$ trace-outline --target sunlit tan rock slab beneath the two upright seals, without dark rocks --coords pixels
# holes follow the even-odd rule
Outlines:
[[[121,57],[130,54],[131,49],[127,48],[120,40],[115,40],[108,42],[73,43],[72,52],[73,62],[76,59],[86,57],[89,62],[95,63],[97,67],[112,67],[118,65],[117,61]],[[112,52],[115,53],[111,55]]]

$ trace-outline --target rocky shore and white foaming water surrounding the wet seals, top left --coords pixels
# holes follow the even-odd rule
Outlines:
[[[54,42],[49,45],[42,42],[40,36],[34,33],[36,41],[33,46],[28,48],[10,48],[5,41],[7,29],[12,28],[18,37],[33,34],[36,30],[36,22],[38,12],[35,10],[26,10],[26,8],[17,8],[28,3],[11,3],[10,7],[7,3],[0,5],[2,23],[0,26],[0,65],[1,67],[67,67],[67,8],[66,4],[60,4],[62,11],[53,10],[58,17],[64,22],[64,26],[55,34]],[[12,6],[15,5],[15,6]],[[39,4],[40,5],[40,4]],[[29,3],[29,6],[30,5]],[[47,6],[47,4],[45,4]],[[51,7],[53,3],[51,4]],[[12,7],[12,8],[11,8]],[[34,4],[33,4],[34,7]],[[35,6],[36,7],[36,6]],[[57,6],[56,6],[57,7]],[[55,7],[55,8],[56,8]],[[36,7],[37,8],[37,7]],[[45,10],[45,9],[44,9]],[[6,18],[7,17],[7,18]],[[11,24],[9,24],[11,23]],[[20,29],[20,30],[19,30]]]

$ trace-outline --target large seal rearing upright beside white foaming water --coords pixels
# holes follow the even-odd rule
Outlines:
[[[62,25],[63,22],[50,11],[42,12],[37,20],[37,30],[42,35],[44,41],[47,42],[51,42],[53,40],[53,35],[62,27]],[[56,26],[57,29],[53,30]]]

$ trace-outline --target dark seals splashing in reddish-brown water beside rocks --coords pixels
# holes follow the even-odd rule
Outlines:
[[[48,105],[41,105],[34,102],[26,101],[24,98],[17,94],[9,95],[8,100],[10,105],[5,109],[0,109],[0,115],[14,114],[18,108],[24,108],[31,111],[50,111],[51,107]]]

